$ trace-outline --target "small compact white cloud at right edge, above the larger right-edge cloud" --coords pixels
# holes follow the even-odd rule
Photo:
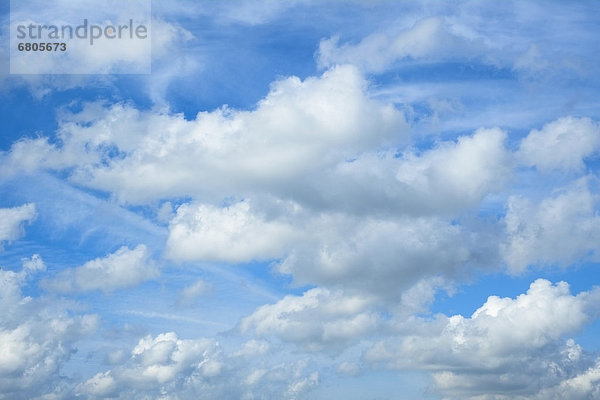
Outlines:
[[[521,141],[519,159],[543,172],[582,171],[600,150],[600,125],[590,118],[565,117],[532,130]]]

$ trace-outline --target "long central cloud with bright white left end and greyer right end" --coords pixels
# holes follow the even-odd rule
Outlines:
[[[267,220],[250,204],[180,207],[167,254],[175,260],[276,260],[276,271],[297,283],[388,299],[422,278],[452,279],[472,263],[483,266],[485,257],[492,264],[494,257],[487,239],[442,218],[313,215],[296,205],[271,210],[273,219]]]

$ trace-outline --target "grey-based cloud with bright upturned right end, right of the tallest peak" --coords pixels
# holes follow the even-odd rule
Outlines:
[[[352,214],[460,212],[504,188],[511,173],[505,138],[500,129],[479,129],[421,153],[365,152],[299,180],[285,194],[311,208]]]

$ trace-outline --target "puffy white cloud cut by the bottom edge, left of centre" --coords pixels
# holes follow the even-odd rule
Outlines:
[[[227,354],[214,339],[180,339],[173,332],[149,335],[127,360],[79,384],[75,393],[93,399],[187,399],[202,393],[205,399],[293,400],[317,384],[319,376],[305,360],[261,363],[256,351],[247,351],[250,347],[256,345]]]

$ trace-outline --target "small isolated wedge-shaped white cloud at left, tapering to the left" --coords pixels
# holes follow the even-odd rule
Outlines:
[[[138,285],[158,275],[143,244],[131,250],[126,246],[103,258],[88,261],[80,267],[61,271],[44,286],[57,292],[102,290],[110,292]]]

